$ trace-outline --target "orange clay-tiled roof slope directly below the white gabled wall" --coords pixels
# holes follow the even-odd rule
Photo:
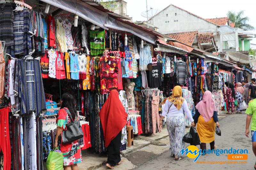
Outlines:
[[[192,46],[197,33],[198,33],[197,31],[189,31],[189,32],[180,32],[180,33],[170,33],[166,35],[184,44]]]

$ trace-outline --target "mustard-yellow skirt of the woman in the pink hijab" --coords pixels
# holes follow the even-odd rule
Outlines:
[[[201,143],[211,143],[214,141],[215,126],[213,117],[208,122],[205,122],[203,116],[199,116],[196,130]]]

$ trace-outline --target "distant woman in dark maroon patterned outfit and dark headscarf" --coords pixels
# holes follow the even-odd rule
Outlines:
[[[228,113],[227,114],[234,114],[236,92],[235,92],[235,86],[233,85],[233,83],[229,83],[229,88],[226,91],[226,96],[227,96],[227,100],[228,100],[228,106],[227,106]],[[229,112],[230,107],[231,107],[231,113]]]

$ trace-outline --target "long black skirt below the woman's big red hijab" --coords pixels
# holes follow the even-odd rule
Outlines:
[[[121,161],[120,157],[120,145],[121,145],[122,130],[117,136],[110,142],[107,147],[108,150],[108,161],[107,163],[111,166],[115,166]]]

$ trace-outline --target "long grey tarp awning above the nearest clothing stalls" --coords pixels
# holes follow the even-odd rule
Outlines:
[[[115,14],[114,12],[111,13],[111,11],[109,10],[108,10],[109,11],[108,13],[101,11],[93,7],[92,5],[87,4],[87,2],[83,2],[81,0],[76,0],[76,1],[42,0],[42,1],[47,4],[61,8],[70,13],[76,14],[77,16],[84,18],[85,20],[91,22],[92,24],[100,26],[101,28],[104,28],[106,30],[108,30],[108,28],[112,28],[120,31],[126,31],[142,38],[145,41],[148,41],[152,44],[156,44],[156,35],[146,32],[147,30],[145,28],[141,27],[139,29],[138,27],[132,26],[133,25],[132,23],[127,24],[122,21],[116,20],[115,18],[118,17],[118,15]],[[93,2],[90,2],[90,3],[93,3]],[[110,16],[112,16],[113,18]],[[118,18],[122,18],[122,16],[119,16]]]

